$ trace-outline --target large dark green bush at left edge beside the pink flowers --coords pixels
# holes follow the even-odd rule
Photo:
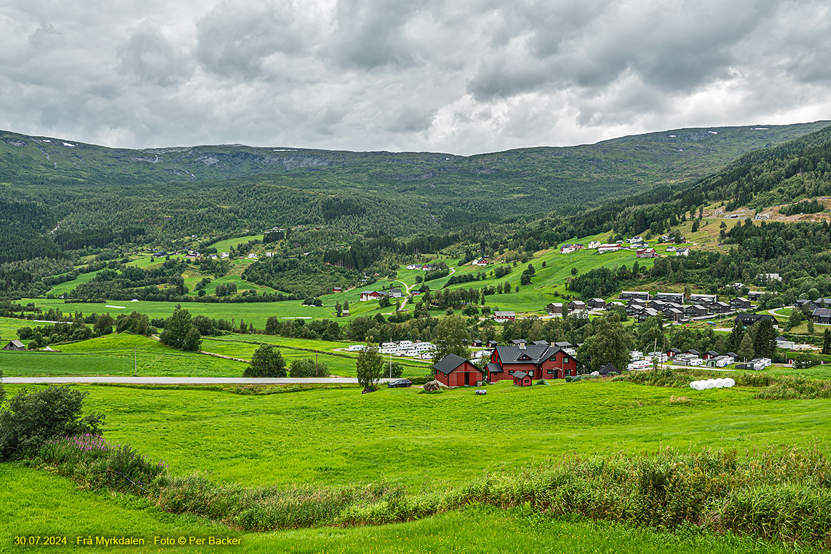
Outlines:
[[[87,394],[69,386],[20,390],[0,412],[0,459],[23,458],[58,437],[98,434],[104,414],[81,415]]]

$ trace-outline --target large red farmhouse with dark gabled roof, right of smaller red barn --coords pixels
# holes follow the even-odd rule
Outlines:
[[[497,346],[490,355],[488,380],[494,383],[514,379],[517,372],[524,372],[529,379],[563,379],[577,375],[578,360],[559,346]]]

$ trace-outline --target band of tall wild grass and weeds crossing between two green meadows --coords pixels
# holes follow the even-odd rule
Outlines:
[[[552,458],[427,493],[385,482],[249,488],[202,475],[170,477],[164,463],[95,438],[53,441],[35,462],[91,487],[140,494],[167,512],[251,531],[379,525],[488,504],[670,531],[697,528],[831,545],[831,458],[818,449],[769,448],[741,456],[663,449]]]

